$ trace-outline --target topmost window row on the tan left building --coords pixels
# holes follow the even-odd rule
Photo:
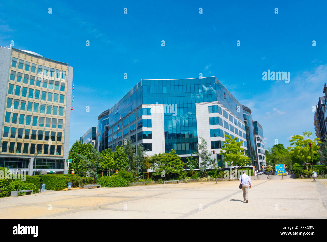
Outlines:
[[[40,73],[43,70],[43,75],[49,75],[49,76],[56,76],[56,78],[61,78],[61,79],[66,79],[66,71],[61,71],[58,69],[54,69],[54,68],[50,68],[46,67],[46,66],[42,66],[42,65],[37,65],[36,63],[31,63],[29,61],[25,61],[25,67],[23,69],[24,66],[24,60],[19,59],[18,61],[18,66],[17,66],[17,58],[12,57],[12,61],[11,61],[11,66],[12,67],[17,67],[18,69],[21,70],[25,70],[25,71],[31,71],[34,73]],[[36,72],[37,70],[37,72]],[[61,72],[61,75],[60,75]]]

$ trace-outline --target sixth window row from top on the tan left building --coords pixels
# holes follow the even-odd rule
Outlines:
[[[50,135],[51,132],[51,135]],[[44,134],[44,136],[43,136]],[[62,132],[56,132],[56,131],[43,131],[43,130],[30,130],[30,129],[24,129],[23,128],[10,128],[9,133],[9,127],[5,126],[3,131],[3,137],[6,138],[17,138],[17,139],[30,139],[30,140],[44,140],[44,141],[57,141],[62,142]],[[43,139],[44,137],[44,139]],[[56,140],[57,138],[57,140]]]

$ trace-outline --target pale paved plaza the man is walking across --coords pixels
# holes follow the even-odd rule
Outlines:
[[[47,191],[0,198],[0,219],[326,219],[327,179],[239,181]]]

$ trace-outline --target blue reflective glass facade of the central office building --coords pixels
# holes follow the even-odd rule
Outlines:
[[[144,133],[140,132],[144,127],[151,127],[152,123],[151,116],[147,116],[147,119],[144,119],[143,116],[142,119],[142,115],[151,115],[148,108],[142,109],[142,104],[163,104],[176,107],[176,110],[172,109],[171,112],[164,111],[163,113],[164,151],[175,150],[177,154],[186,155],[198,151],[196,103],[211,101],[218,101],[229,112],[243,120],[241,104],[215,77],[169,80],[142,79],[114,107],[99,115],[98,150],[102,151],[110,146],[114,147],[126,136],[133,137],[134,141],[136,135],[136,138],[139,138],[135,140],[137,143],[141,143],[138,142],[139,140],[144,141]],[[209,113],[222,113],[221,108],[215,105],[209,106],[208,109]],[[123,121],[125,129],[128,116],[129,133],[124,132],[123,137],[118,138],[118,133],[121,130],[116,130],[114,127]],[[210,122],[222,124],[221,118],[214,118]],[[135,132],[135,124],[137,133]],[[213,135],[217,135],[217,132],[213,131]],[[138,133],[140,134],[138,135]],[[218,135],[221,136],[222,134],[223,131],[220,131]],[[117,137],[117,139],[114,140],[113,137]],[[144,145],[151,147],[152,150],[152,145],[150,146],[149,143]]]

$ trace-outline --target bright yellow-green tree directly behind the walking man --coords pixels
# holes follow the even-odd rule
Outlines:
[[[236,174],[237,167],[245,166],[250,163],[250,158],[244,154],[244,149],[241,148],[243,141],[236,142],[237,137],[232,139],[230,135],[225,134],[225,140],[223,141],[224,145],[222,146],[220,155],[224,155],[224,161],[230,162],[235,166]]]

